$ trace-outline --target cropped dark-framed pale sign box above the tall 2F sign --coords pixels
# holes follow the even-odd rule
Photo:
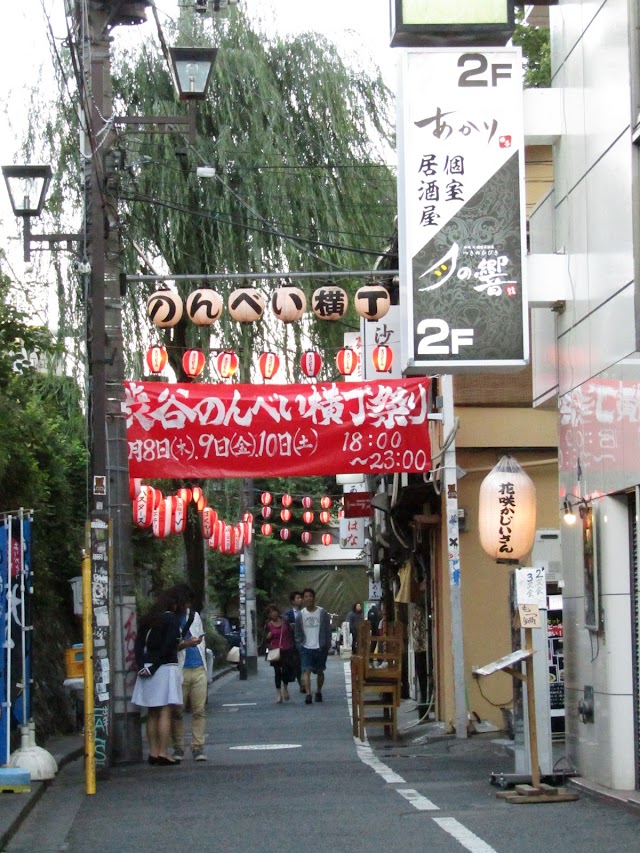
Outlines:
[[[392,47],[505,45],[514,0],[389,0]]]

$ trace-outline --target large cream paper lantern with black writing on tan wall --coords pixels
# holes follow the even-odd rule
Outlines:
[[[533,547],[536,487],[513,456],[503,456],[480,485],[480,544],[497,562],[517,563]]]

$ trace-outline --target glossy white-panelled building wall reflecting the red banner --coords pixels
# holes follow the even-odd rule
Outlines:
[[[584,626],[582,530],[563,527],[568,754],[581,775],[616,789],[635,788],[637,760],[629,518],[626,498],[612,495],[640,482],[628,7],[629,0],[560,0],[550,8],[563,129],[554,146],[554,192],[531,226],[533,252],[567,260],[570,297],[555,318],[560,484],[593,501],[600,542],[604,630],[597,634]],[[539,325],[534,358],[549,337],[549,322]],[[536,375],[544,400],[549,365],[534,364]],[[578,714],[587,685],[595,693],[594,723]]]

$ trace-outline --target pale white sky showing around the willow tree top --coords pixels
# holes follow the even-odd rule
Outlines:
[[[395,84],[395,52],[389,47],[389,0],[239,0],[259,14],[267,30],[297,33],[320,32],[347,54],[370,55],[391,88]],[[161,23],[174,19],[177,0],[156,0]],[[154,37],[155,23],[121,27],[126,38]],[[4,0],[0,11],[0,165],[23,162],[21,139],[29,121],[29,97],[34,86],[40,93],[55,88],[47,39],[50,21],[56,44],[64,50],[66,37],[64,0]],[[126,31],[126,32],[125,32]],[[34,230],[36,230],[34,228]],[[0,248],[8,247],[16,273],[20,274],[21,225],[14,218],[6,189],[0,186]]]

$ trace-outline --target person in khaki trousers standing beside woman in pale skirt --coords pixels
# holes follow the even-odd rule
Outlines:
[[[184,713],[191,711],[191,754],[195,761],[206,761],[204,738],[207,706],[207,648],[200,614],[193,609],[194,594],[186,584],[177,584],[174,591],[179,601],[180,636],[184,648],[178,652],[182,672],[182,705],[174,706],[171,715],[173,757],[184,758]],[[190,641],[190,642],[186,642]]]

